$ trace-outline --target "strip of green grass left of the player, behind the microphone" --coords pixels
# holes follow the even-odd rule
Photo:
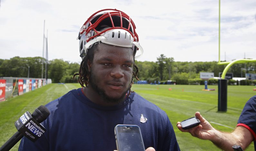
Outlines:
[[[65,87],[67,86],[67,88]],[[40,105],[62,96],[79,84],[48,84],[34,91],[0,102],[0,146],[2,146],[17,131],[14,122],[20,118],[25,111],[33,113]],[[11,150],[18,150],[17,143]]]

